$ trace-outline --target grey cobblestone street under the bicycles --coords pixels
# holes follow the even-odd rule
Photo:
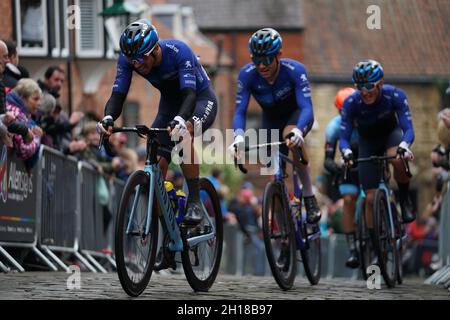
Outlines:
[[[0,275],[0,299],[128,299],[116,273],[81,273],[80,289],[69,290],[62,272],[25,272]],[[369,290],[364,281],[321,279],[310,286],[298,277],[290,291],[278,288],[272,277],[219,275],[208,293],[195,293],[183,274],[154,273],[150,285],[138,299],[164,300],[304,300],[304,299],[446,299],[450,293],[442,286],[425,285],[423,279],[407,278],[403,285]]]

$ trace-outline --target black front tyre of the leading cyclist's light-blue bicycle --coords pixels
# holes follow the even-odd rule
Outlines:
[[[130,200],[133,201],[135,188],[141,186],[143,194],[147,192],[149,187],[149,177],[144,171],[136,171],[129,178],[122,193],[122,197],[119,204],[119,211],[117,213],[116,222],[116,235],[115,235],[115,254],[117,264],[117,274],[119,276],[120,284],[124,291],[132,296],[139,296],[147,287],[150,277],[153,272],[153,265],[155,263],[156,248],[158,243],[158,211],[157,200],[154,198],[153,210],[152,210],[152,223],[150,226],[149,240],[149,254],[146,266],[144,268],[144,274],[142,279],[138,282],[133,281],[127,272],[127,261],[125,259],[126,253],[124,249],[124,242],[129,241],[125,239],[125,228],[128,224],[128,206]],[[143,195],[144,196],[144,195]],[[148,199],[148,198],[147,198]],[[130,239],[130,238],[129,238]]]

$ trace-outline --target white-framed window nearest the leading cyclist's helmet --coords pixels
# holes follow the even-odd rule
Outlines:
[[[76,54],[82,58],[100,58],[104,55],[102,1],[76,0],[80,8],[80,29],[76,30]]]

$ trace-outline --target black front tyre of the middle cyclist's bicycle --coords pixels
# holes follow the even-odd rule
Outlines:
[[[270,182],[266,185],[263,197],[263,208],[262,208],[262,222],[263,222],[263,236],[264,245],[266,247],[267,260],[269,262],[270,269],[272,270],[272,275],[275,278],[278,286],[283,290],[288,290],[294,284],[295,276],[297,273],[297,244],[295,242],[294,226],[291,217],[291,213],[288,211],[287,204],[283,201],[282,195],[282,185],[277,182]],[[278,200],[280,206],[280,211],[274,212],[275,199]],[[277,216],[278,218],[274,217]],[[276,225],[273,223],[276,222]],[[281,222],[281,224],[280,224]],[[275,253],[278,251],[273,247],[272,240],[274,236],[272,231],[275,227],[284,227],[285,240],[288,241],[289,249],[289,260],[287,270],[283,271],[277,265]],[[283,269],[286,265],[283,266]]]

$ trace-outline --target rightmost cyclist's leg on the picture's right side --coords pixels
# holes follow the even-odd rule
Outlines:
[[[403,132],[400,128],[395,129],[390,135],[386,143],[388,155],[396,155],[397,148],[403,138]],[[415,213],[412,208],[411,199],[409,198],[409,181],[406,175],[405,167],[401,159],[391,160],[390,163],[394,167],[394,179],[397,181],[399,190],[399,200],[402,209],[402,217],[405,222],[412,222],[415,219]]]

